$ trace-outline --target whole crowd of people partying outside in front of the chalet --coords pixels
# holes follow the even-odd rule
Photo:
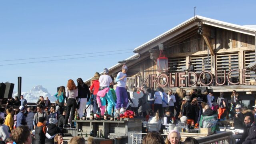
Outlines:
[[[130,110],[134,117],[143,117],[148,124],[157,124],[156,132],[160,133],[169,124],[178,122],[183,122],[186,128],[192,129],[202,127],[202,120],[205,118],[210,117],[220,121],[233,118],[234,127],[245,130],[243,141],[256,140],[255,110],[242,107],[240,97],[235,90],[230,96],[231,102],[228,102],[223,92],[220,92],[219,96],[213,96],[212,92],[200,89],[192,89],[189,93],[179,87],[175,92],[169,89],[168,93],[165,93],[161,87],[142,86],[127,90],[127,70],[128,67],[124,64],[122,71],[117,74],[114,80],[117,83],[116,90],[112,78],[108,75],[108,69],[105,68],[103,75],[95,73],[90,87],[82,78],[76,80],[77,84],[73,80],[68,80],[66,88],[60,86],[58,92],[54,94],[55,103],[51,103],[48,97],[44,99],[43,96],[40,96],[36,106],[28,106],[27,100],[22,95],[20,99],[15,97],[7,101],[1,100],[1,106],[6,105],[6,107],[0,109],[0,137],[7,143],[12,134],[11,138],[18,143],[20,139],[16,139],[15,134],[29,131],[34,134],[36,144],[54,144],[62,139],[63,128],[75,127],[72,120],[82,119],[85,115],[89,118],[90,113],[96,114],[97,111],[100,111],[101,116],[115,113],[116,119],[120,120],[120,115]],[[213,132],[217,130],[219,130],[218,125],[212,128]],[[146,138],[156,132],[148,133]],[[172,136],[174,134],[176,135]],[[174,134],[168,135],[171,137],[166,139],[166,143],[172,144],[173,139],[180,140],[180,134],[176,131]],[[22,136],[22,138],[28,137]],[[30,138],[26,141],[30,142]]]

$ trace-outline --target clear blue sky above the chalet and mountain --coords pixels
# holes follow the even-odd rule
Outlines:
[[[76,58],[14,60],[126,50],[126,54],[0,66],[0,82],[22,92],[42,85],[50,94],[69,79],[86,80],[95,72],[133,55],[137,46],[196,14],[238,25],[255,25],[256,1],[172,0],[5,0],[0,1],[0,65]]]

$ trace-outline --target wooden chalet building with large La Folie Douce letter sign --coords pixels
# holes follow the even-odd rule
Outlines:
[[[243,104],[252,106],[256,98],[256,74],[245,69],[255,62],[255,39],[255,29],[195,16],[135,48],[137,54],[109,68],[109,75],[115,78],[122,63],[126,63],[128,89],[145,82],[144,85],[155,88],[158,84],[166,85],[166,91],[175,91],[180,86],[187,92],[192,88],[207,89],[217,97],[224,92],[228,99],[232,90],[236,90]],[[157,66],[160,44],[168,58],[164,72],[159,72]],[[196,76],[194,73],[188,76],[186,72],[189,61]],[[90,80],[86,83],[90,85]]]

